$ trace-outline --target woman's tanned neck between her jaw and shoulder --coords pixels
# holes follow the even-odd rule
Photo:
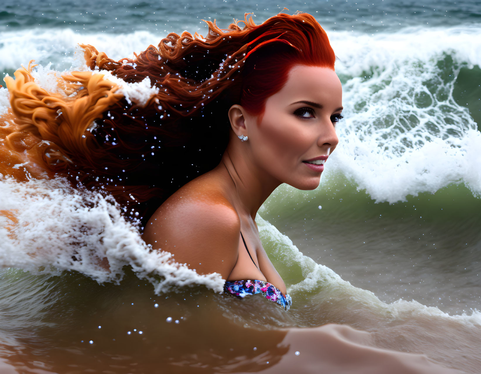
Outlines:
[[[253,220],[264,201],[281,184],[254,162],[250,145],[237,137],[231,137],[218,168],[232,181],[234,204]]]

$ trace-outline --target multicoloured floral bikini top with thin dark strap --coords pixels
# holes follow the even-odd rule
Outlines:
[[[245,249],[247,249],[247,245],[245,244],[244,237],[241,233],[242,241],[244,242]],[[247,253],[249,253],[249,257],[251,258],[252,262],[254,262],[249,249],[247,249]],[[254,262],[255,265],[255,262]],[[255,265],[257,267],[257,265]],[[279,304],[283,307],[286,311],[289,310],[292,304],[291,296],[288,294],[284,295],[282,292],[271,285],[268,282],[261,281],[261,280],[238,280],[238,281],[226,281],[224,284],[224,292],[237,296],[238,298],[244,298],[246,295],[254,295],[254,294],[261,294],[271,301]]]

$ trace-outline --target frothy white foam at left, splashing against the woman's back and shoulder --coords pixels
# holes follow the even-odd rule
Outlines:
[[[33,274],[75,270],[98,282],[119,282],[122,267],[160,293],[205,285],[223,289],[220,274],[199,275],[165,251],[151,251],[114,199],[69,187],[62,178],[0,180],[0,266]]]

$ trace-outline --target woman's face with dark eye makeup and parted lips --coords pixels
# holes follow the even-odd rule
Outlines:
[[[254,162],[299,189],[319,185],[323,163],[337,146],[342,86],[326,67],[294,65],[284,87],[266,100],[262,121],[247,121]]]

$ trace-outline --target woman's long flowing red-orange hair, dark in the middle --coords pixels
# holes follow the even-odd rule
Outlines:
[[[145,223],[179,187],[220,162],[230,106],[241,104],[260,121],[293,65],[334,69],[329,39],[312,15],[279,13],[255,25],[249,14],[228,29],[204,21],[205,38],[170,33],[132,59],[114,61],[81,45],[93,72],[57,77],[59,92],[34,82],[35,65],[17,70],[15,80],[6,78],[12,109],[0,119],[0,173],[66,176],[113,194],[127,216],[137,212]],[[156,92],[147,100],[124,95],[100,71]]]

